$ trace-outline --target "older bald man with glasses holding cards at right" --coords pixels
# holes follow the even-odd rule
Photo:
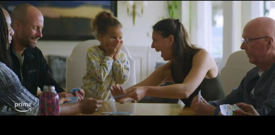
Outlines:
[[[225,99],[207,102],[201,98],[198,102],[196,96],[191,108],[197,115],[221,115],[219,105],[223,104],[249,104],[259,115],[267,115],[275,108],[275,20],[258,17],[249,21],[242,37],[241,49],[256,67],[247,72],[239,87]]]

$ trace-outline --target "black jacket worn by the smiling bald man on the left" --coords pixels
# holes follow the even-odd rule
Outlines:
[[[18,76],[21,82],[20,63],[19,59],[13,53],[12,43],[9,45],[11,56],[11,68],[13,72]],[[42,51],[38,47],[27,47],[24,50],[24,60],[22,65],[22,85],[34,96],[37,95],[37,87],[43,91],[45,85],[55,86],[57,93],[64,92],[52,77],[52,74],[48,70],[48,64],[46,59],[42,55]]]

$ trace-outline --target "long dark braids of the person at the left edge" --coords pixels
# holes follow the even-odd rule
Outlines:
[[[0,61],[11,68],[11,59],[9,55],[9,31],[3,6],[0,5]]]

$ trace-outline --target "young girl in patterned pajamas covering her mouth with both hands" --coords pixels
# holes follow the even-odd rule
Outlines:
[[[130,74],[127,56],[120,51],[123,45],[122,24],[111,14],[102,11],[91,22],[91,27],[100,45],[87,50],[87,73],[83,77],[85,98],[115,102],[110,88],[124,84]]]

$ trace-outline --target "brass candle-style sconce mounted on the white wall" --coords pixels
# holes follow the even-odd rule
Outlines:
[[[140,1],[138,1],[140,2]],[[147,1],[142,1],[142,5],[141,5],[141,14],[137,13],[136,11],[136,3],[134,1],[127,1],[127,14],[129,16],[133,16],[133,25],[135,26],[135,17],[136,15],[138,17],[142,17],[143,14],[143,7],[147,6]],[[132,11],[129,11],[129,7],[132,7]]]

